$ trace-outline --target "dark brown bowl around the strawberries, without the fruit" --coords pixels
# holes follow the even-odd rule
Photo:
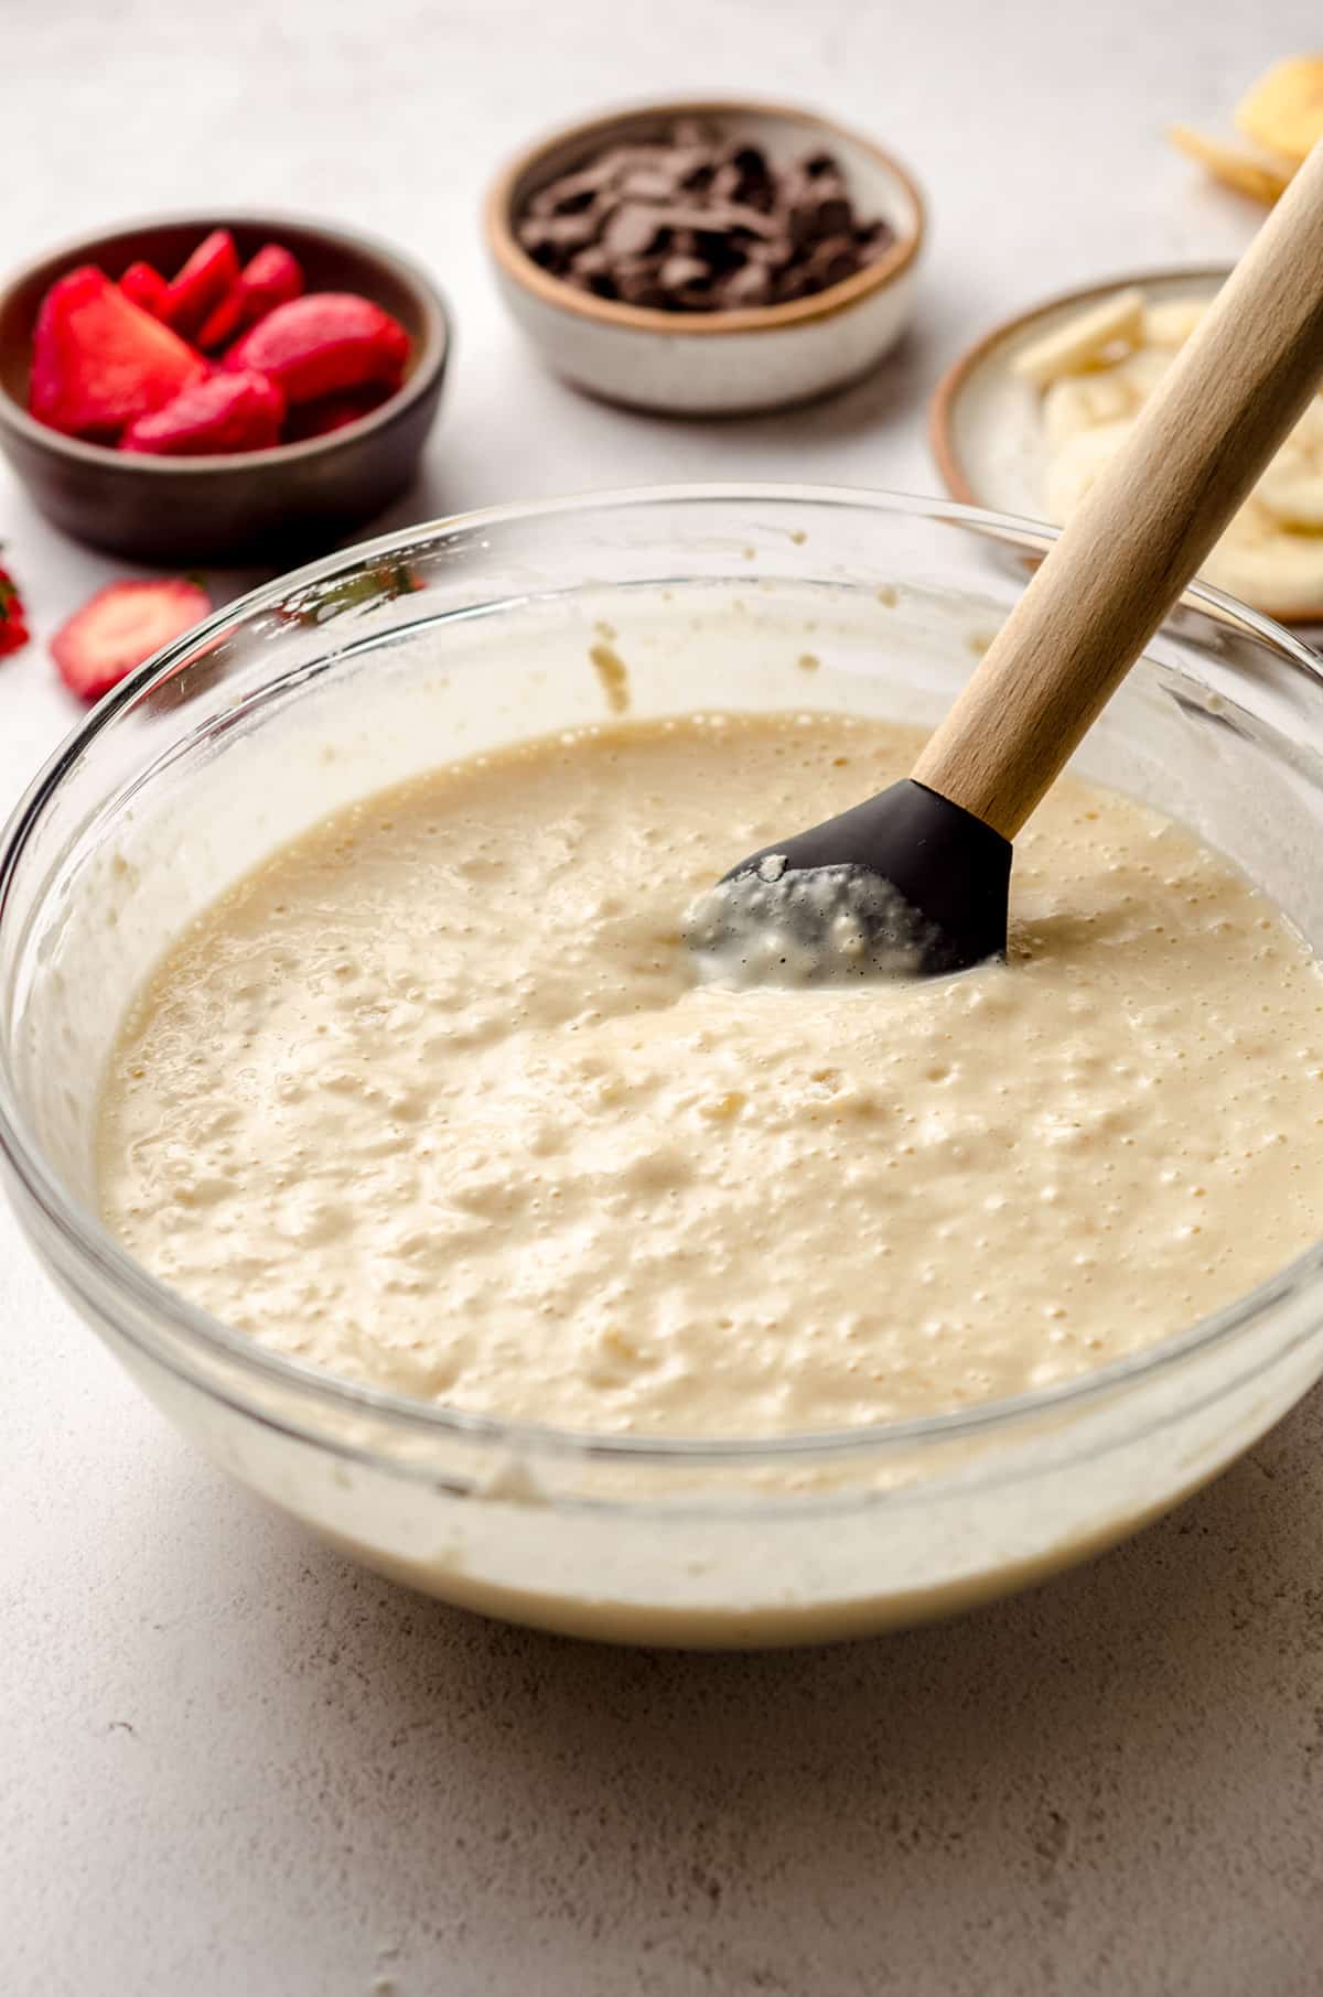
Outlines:
[[[224,457],[148,457],[82,443],[28,415],[32,328],[46,290],[78,264],[120,278],[146,258],[172,274],[214,228],[240,260],[282,242],[310,292],[360,292],[412,339],[404,385],[356,423],[306,443]],[[290,216],[166,216],[84,236],[0,288],[0,449],[56,525],[138,561],[286,565],[380,513],[414,477],[436,419],[450,320],[436,286],[368,236]]]

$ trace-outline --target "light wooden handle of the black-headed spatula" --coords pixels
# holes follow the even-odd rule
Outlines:
[[[1013,839],[1323,375],[1323,142],[1071,515],[913,775]]]

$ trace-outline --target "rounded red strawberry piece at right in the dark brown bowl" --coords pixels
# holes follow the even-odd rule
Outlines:
[[[258,320],[222,365],[268,373],[296,403],[370,381],[394,389],[408,351],[406,330],[372,300],[354,292],[308,292]]]

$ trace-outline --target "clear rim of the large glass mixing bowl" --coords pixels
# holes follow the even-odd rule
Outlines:
[[[278,607],[296,587],[302,589],[310,583],[324,583],[334,577],[360,571],[366,565],[380,563],[384,557],[402,555],[410,549],[418,553],[422,543],[454,539],[458,533],[482,531],[500,523],[546,519],[552,515],[624,511],[630,507],[644,509],[650,505],[767,505],[775,501],[793,501],[799,507],[815,505],[823,509],[841,507],[853,511],[901,513],[915,519],[927,519],[937,525],[967,527],[989,539],[995,537],[1021,547],[1045,547],[1057,537],[1055,527],[1047,527],[1039,521],[959,505],[949,499],[929,499],[847,485],[739,481],[642,485],[616,491],[580,493],[560,499],[480,507],[470,513],[454,513],[444,519],[420,521],[412,527],[380,535],[372,541],[358,541],[350,549],[340,549],[320,561],[308,563],[302,569],[292,569],[276,581],[264,583],[232,603],[226,603],[204,623],[194,625],[192,631],[138,667],[90,713],[80,727],[72,731],[72,735],[60,743],[36,779],[28,785],[18,807],[0,833],[0,925],[4,923],[16,867],[22,861],[24,849],[34,835],[46,805],[60,789],[64,773],[82,759],[86,749],[104,729],[114,725],[126,707],[132,707],[146,687],[172,673],[200,643],[210,639],[214,633],[232,627],[236,619],[250,619]],[[1221,613],[1219,621],[1231,621],[1259,637],[1263,643],[1273,647],[1279,657],[1285,657],[1299,667],[1323,691],[1323,659],[1311,653],[1307,645],[1295,639],[1271,617],[1265,617],[1223,591],[1211,589],[1203,583],[1191,585],[1181,603]],[[1323,1238],[1319,1238],[1293,1262],[1287,1262],[1253,1290],[1247,1290],[1221,1310],[1205,1318],[1197,1318],[1185,1330],[1173,1332],[1155,1346],[1131,1354],[1129,1358],[1115,1360],[1111,1366],[1099,1366],[1095,1372],[1087,1372],[1075,1380],[1065,1380],[1057,1386],[1041,1388],[1031,1394],[981,1402],[975,1408],[919,1416],[907,1422],[879,1422],[867,1428],[791,1432],[785,1436],[604,1436],[592,1430],[552,1428],[536,1422],[506,1422],[500,1416],[468,1414],[460,1408],[446,1408],[416,1400],[408,1394],[392,1394],[384,1388],[344,1380],[322,1368],[306,1366],[300,1360],[284,1358],[278,1352],[268,1352],[254,1338],[234,1330],[220,1318],[210,1316],[196,1304],[190,1304],[186,1298],[158,1282],[114,1240],[94,1214],[84,1210],[64,1192],[60,1178],[54,1170],[50,1170],[38,1142],[26,1128],[26,1120],[18,1108],[14,1092],[8,1048],[2,1040],[0,1154],[8,1158],[20,1186],[56,1230],[56,1236],[72,1254],[74,1262],[108,1284],[112,1292],[120,1292],[140,1310],[148,1312],[148,1320],[158,1334],[152,1340],[152,1356],[172,1366],[176,1372],[184,1372],[192,1384],[214,1398],[234,1402],[234,1396],[222,1392],[214,1380],[188,1368],[186,1360],[196,1348],[236,1364],[240,1376],[252,1374],[258,1380],[276,1382],[286,1390],[310,1396],[314,1402],[340,1410],[342,1414],[352,1412],[360,1416],[374,1416],[376,1420],[396,1424],[404,1430],[412,1430],[414,1434],[450,1436],[454,1440],[500,1446],[528,1456],[590,1456],[596,1460],[630,1462],[636,1466],[675,1464],[687,1468],[747,1468],[751,1464],[765,1462],[785,1464],[787,1460],[821,1462],[841,1456],[857,1458],[861,1452],[891,1454],[893,1450],[911,1450],[915,1444],[925,1442],[943,1444],[957,1438],[985,1436],[989,1430],[1005,1430],[1019,1426],[1021,1422],[1037,1420],[1043,1414],[1077,1408],[1089,1400],[1111,1394],[1119,1386],[1127,1386],[1137,1380],[1151,1380],[1173,1366],[1179,1366],[1193,1352],[1231,1340],[1247,1324],[1255,1322],[1275,1304],[1283,1302],[1283,1298],[1295,1296],[1309,1282],[1323,1276]],[[120,1326],[120,1334],[128,1336],[136,1344],[144,1342],[138,1332],[128,1332],[124,1326]],[[252,1404],[242,1406],[244,1412],[256,1416],[258,1420],[270,1420],[262,1408]],[[322,1442],[324,1438],[318,1436],[312,1440]],[[368,1454],[376,1452],[368,1450]]]

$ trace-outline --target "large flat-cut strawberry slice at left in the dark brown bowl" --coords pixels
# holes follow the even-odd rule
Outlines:
[[[70,437],[114,439],[204,373],[178,333],[82,264],[52,284],[36,316],[28,407]]]

